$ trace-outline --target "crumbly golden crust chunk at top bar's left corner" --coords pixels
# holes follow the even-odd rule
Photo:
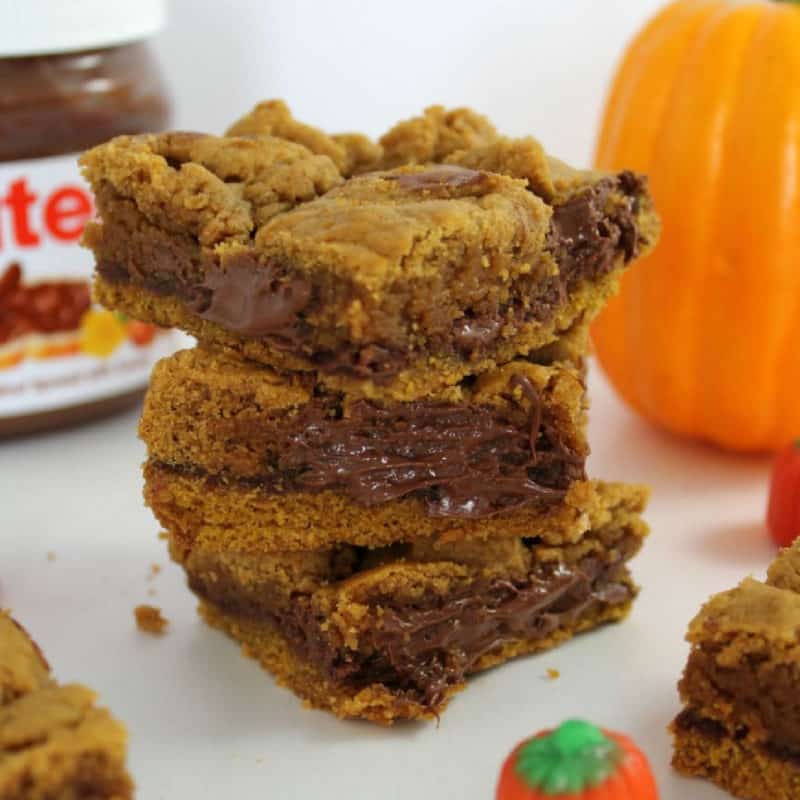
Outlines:
[[[119,136],[85,153],[81,164],[101,208],[113,204],[115,216],[125,214],[120,224],[138,212],[140,224],[203,247],[246,245],[277,214],[342,182],[327,157],[272,136]],[[92,223],[87,241],[97,232]]]

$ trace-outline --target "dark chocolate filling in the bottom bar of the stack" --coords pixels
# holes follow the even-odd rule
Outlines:
[[[354,688],[383,684],[432,709],[485,656],[573,628],[582,617],[622,605],[634,594],[624,565],[586,558],[540,565],[524,580],[476,580],[460,592],[430,594],[413,605],[387,595],[372,601],[374,626],[360,634],[360,649],[351,650],[333,641],[308,595],[268,608],[235,590],[225,592],[219,582],[190,576],[189,584],[225,613],[273,625],[326,677]]]

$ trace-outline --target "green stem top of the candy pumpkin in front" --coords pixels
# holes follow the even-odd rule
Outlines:
[[[600,728],[571,719],[526,742],[515,767],[529,788],[558,797],[599,786],[614,774],[621,756],[619,745]]]

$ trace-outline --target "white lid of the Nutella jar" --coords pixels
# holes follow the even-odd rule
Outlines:
[[[166,0],[0,0],[0,58],[134,42],[166,21]]]

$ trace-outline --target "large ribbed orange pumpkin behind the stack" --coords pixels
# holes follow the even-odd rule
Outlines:
[[[661,244],[595,323],[643,416],[737,450],[800,434],[800,6],[679,0],[630,45],[596,154],[647,173]]]

